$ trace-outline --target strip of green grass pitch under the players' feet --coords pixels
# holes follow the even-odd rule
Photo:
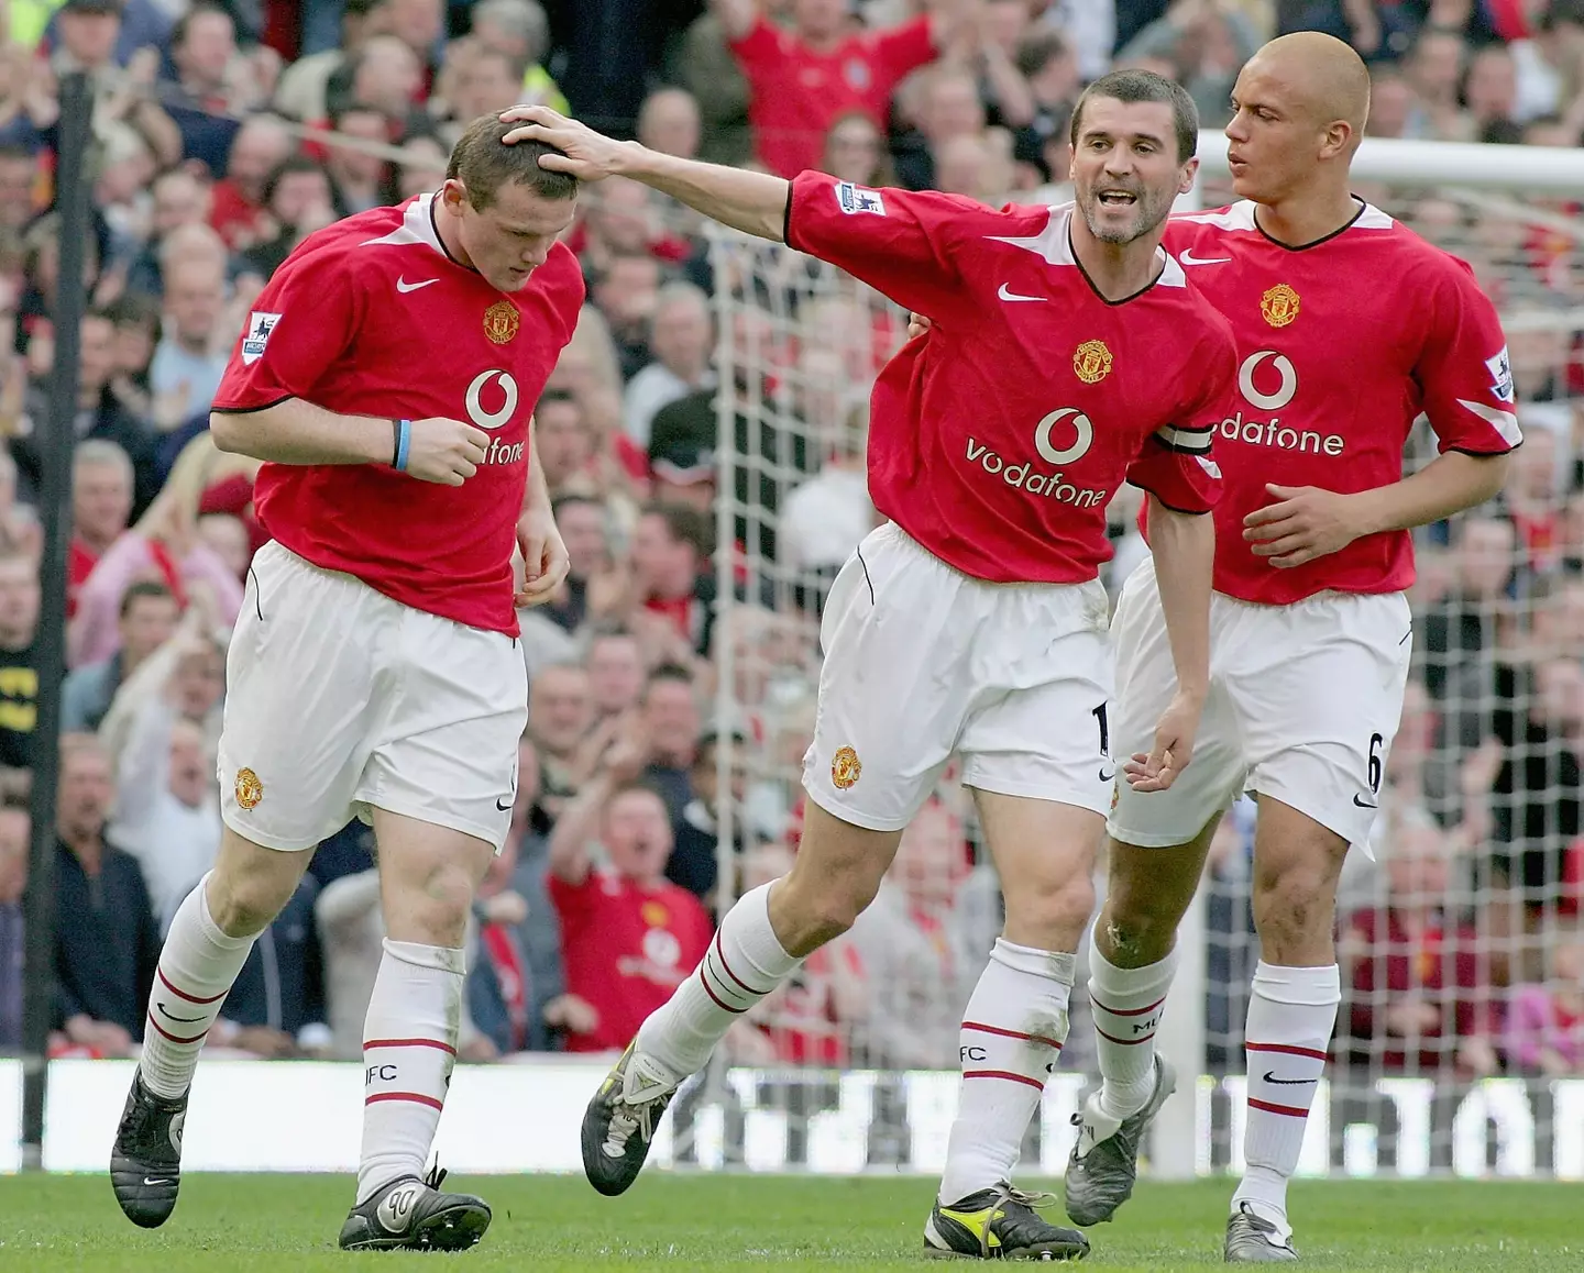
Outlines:
[[[922,1268],[927,1180],[648,1175],[623,1199],[569,1176],[463,1181],[496,1211],[469,1270]],[[348,1270],[410,1256],[344,1256],[334,1238],[352,1181],[190,1176],[165,1229],[127,1224],[103,1176],[0,1180],[5,1273]],[[1091,1230],[1085,1267],[1220,1268],[1231,1186],[1142,1184],[1115,1224]],[[1392,1273],[1551,1273],[1584,1268],[1584,1186],[1300,1183],[1304,1265]],[[447,1257],[429,1256],[442,1260]]]

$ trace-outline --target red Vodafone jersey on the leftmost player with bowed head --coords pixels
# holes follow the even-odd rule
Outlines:
[[[489,432],[461,486],[386,464],[266,464],[253,502],[265,529],[314,565],[515,636],[527,424],[572,339],[583,274],[556,244],[520,291],[496,291],[447,255],[432,198],[309,234],[253,302],[214,408],[301,397],[344,415],[448,416]]]

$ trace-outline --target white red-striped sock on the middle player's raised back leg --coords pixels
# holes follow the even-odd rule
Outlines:
[[[702,1070],[732,1023],[803,963],[787,955],[770,926],[771,887],[762,884],[737,899],[694,975],[638,1026],[638,1051],[678,1078]]]

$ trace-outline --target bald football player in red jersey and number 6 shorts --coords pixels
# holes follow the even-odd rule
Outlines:
[[[1177,925],[1221,814],[1251,793],[1262,958],[1232,1264],[1297,1259],[1286,1184],[1342,998],[1337,879],[1348,846],[1369,839],[1408,678],[1408,532],[1491,499],[1521,440],[1502,328],[1468,266],[1351,193],[1369,86],[1327,35],[1266,44],[1226,127],[1239,201],[1174,218],[1166,236],[1231,321],[1239,359],[1213,453],[1210,690],[1171,790],[1117,785],[1090,982],[1104,1085],[1079,1119],[1066,1206],[1090,1226],[1133,1192],[1139,1142],[1175,1083],[1153,1040]],[[1403,477],[1421,412],[1440,454]],[[1114,633],[1117,741],[1136,766],[1175,690],[1153,562],[1128,580]]]

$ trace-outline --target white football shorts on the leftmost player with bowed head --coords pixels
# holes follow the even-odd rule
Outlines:
[[[279,543],[253,557],[227,659],[225,825],[312,849],[386,809],[496,849],[527,673],[516,641],[426,614]]]

